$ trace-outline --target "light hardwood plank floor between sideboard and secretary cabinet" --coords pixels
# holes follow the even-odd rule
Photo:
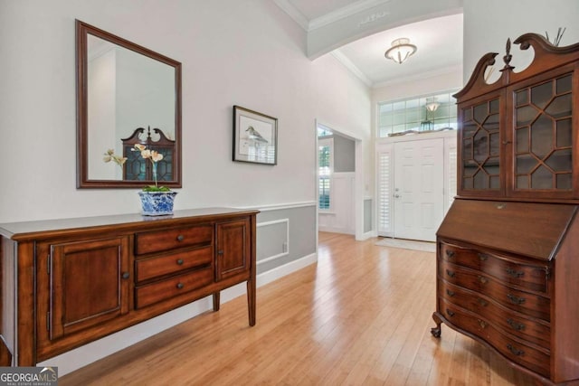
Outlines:
[[[430,328],[435,255],[320,233],[318,263],[72,372],[66,385],[528,385],[481,344]]]

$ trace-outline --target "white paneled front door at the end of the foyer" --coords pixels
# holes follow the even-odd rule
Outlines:
[[[394,144],[394,237],[436,240],[444,216],[444,140]]]

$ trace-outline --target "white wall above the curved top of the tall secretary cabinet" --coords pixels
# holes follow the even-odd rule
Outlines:
[[[553,39],[559,27],[566,27],[560,46],[579,42],[579,1],[577,0],[464,0],[464,82],[470,79],[479,59],[487,52],[498,52],[503,67],[507,39],[515,41],[523,33],[539,33]],[[531,51],[531,50],[529,50]],[[530,61],[527,52],[511,48],[515,71]],[[527,59],[528,58],[528,59]]]

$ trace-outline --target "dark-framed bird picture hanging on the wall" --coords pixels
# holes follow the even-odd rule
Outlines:
[[[278,164],[278,119],[233,106],[233,161]]]

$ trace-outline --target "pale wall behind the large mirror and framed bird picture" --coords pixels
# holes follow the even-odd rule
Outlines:
[[[309,61],[269,0],[2,0],[0,222],[140,210],[137,189],[76,189],[75,19],[183,63],[177,210],[314,201],[315,118],[370,137],[367,87]],[[234,104],[279,118],[277,166],[231,161]]]

